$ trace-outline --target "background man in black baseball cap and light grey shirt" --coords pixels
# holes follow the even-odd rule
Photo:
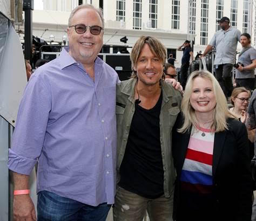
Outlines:
[[[204,57],[213,47],[216,48],[214,59],[215,77],[227,97],[233,91],[232,68],[233,64],[235,64],[237,43],[240,40],[241,32],[235,27],[230,26],[230,19],[228,17],[223,17],[217,20],[217,22],[219,22],[221,29],[214,34],[201,57]]]

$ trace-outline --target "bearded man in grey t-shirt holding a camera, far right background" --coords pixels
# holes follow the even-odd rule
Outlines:
[[[238,63],[235,64],[235,82],[237,87],[254,89],[254,68],[256,67],[256,50],[251,46],[251,36],[242,33],[240,37],[242,50],[238,56]]]

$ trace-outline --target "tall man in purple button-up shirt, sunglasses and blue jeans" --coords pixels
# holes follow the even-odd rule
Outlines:
[[[69,49],[39,67],[19,107],[9,169],[14,218],[36,220],[28,194],[38,161],[38,220],[105,220],[116,192],[117,73],[97,57],[102,11],[71,12]]]

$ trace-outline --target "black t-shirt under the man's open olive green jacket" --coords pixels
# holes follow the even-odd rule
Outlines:
[[[135,104],[118,183],[125,190],[150,199],[164,194],[159,126],[161,101],[162,94],[152,109]]]

